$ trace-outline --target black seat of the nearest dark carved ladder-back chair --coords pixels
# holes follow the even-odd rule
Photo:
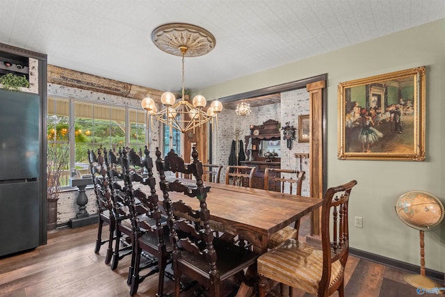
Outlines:
[[[213,239],[213,247],[218,255],[216,266],[218,267],[220,280],[225,280],[229,276],[234,275],[234,271],[241,271],[246,266],[255,264],[259,256],[256,252],[216,238]],[[181,258],[178,259],[178,264],[184,264],[186,266],[192,264],[197,268],[197,272],[200,273],[202,277],[209,278],[209,262],[202,256],[181,250]]]

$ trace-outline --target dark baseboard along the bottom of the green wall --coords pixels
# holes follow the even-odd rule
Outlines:
[[[372,252],[365,252],[364,250],[357,250],[356,248],[349,248],[349,254],[355,257],[363,258],[372,262],[384,264],[394,268],[402,269],[407,272],[420,273],[420,266],[398,261],[381,255],[373,254]],[[440,283],[445,281],[445,273],[435,271],[432,269],[425,269],[426,276],[433,278]]]

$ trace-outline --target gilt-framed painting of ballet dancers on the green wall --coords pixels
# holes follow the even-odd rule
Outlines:
[[[425,160],[425,71],[339,83],[339,159]]]

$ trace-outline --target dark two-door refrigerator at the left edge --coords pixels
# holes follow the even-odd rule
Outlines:
[[[0,90],[0,256],[39,246],[39,95]]]

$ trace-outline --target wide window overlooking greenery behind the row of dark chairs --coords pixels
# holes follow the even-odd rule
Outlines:
[[[74,118],[70,118],[70,108]],[[102,147],[118,151],[124,145],[143,150],[146,143],[142,109],[48,95],[47,115],[48,145],[64,145],[69,152],[65,156],[67,166],[60,177],[63,186],[69,185],[70,168],[81,175],[90,173],[88,150],[97,152]]]

